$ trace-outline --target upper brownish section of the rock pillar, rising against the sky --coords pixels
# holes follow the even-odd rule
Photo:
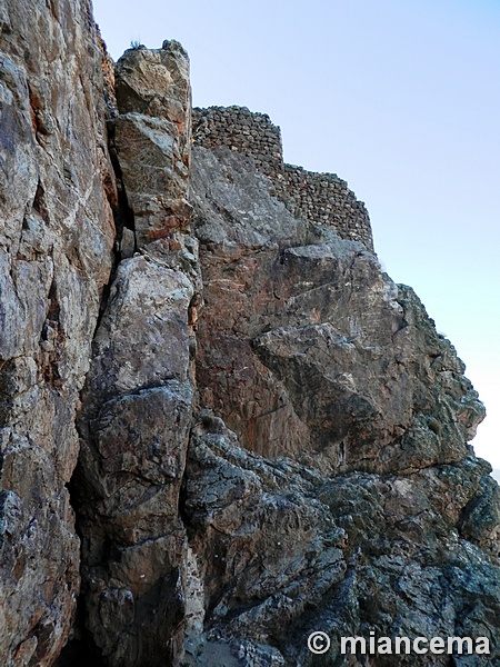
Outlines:
[[[129,49],[117,63],[114,146],[140,246],[186,231],[190,167],[189,60],[176,41]]]

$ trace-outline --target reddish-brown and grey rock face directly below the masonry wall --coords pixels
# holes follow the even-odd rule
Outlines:
[[[293,219],[239,155],[197,148],[192,185],[202,405],[249,449],[326,471],[461,460],[483,408],[412,290]]]

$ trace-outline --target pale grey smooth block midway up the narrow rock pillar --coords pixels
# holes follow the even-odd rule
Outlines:
[[[187,379],[188,308],[193,293],[183,272],[152,253],[120,263],[96,334],[88,380],[99,387],[101,399],[109,392]]]

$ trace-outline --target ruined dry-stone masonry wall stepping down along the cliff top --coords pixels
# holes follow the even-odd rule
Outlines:
[[[272,179],[276,195],[292,213],[331,225],[343,239],[361,241],[373,250],[370,218],[348,183],[336,173],[316,173],[283,163],[280,128],[267,113],[246,107],[209,107],[192,110],[193,140],[198,146],[229,149],[251,157]]]

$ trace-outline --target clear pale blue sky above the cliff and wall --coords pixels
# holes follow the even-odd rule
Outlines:
[[[284,159],[367,203],[377,253],[467,364],[500,468],[500,1],[93,0],[118,59],[177,39],[193,103],[281,127]]]

